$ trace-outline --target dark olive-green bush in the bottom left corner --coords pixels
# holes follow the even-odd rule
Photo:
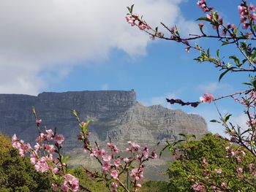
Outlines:
[[[8,137],[0,134],[0,191],[50,191],[50,180],[20,158]]]

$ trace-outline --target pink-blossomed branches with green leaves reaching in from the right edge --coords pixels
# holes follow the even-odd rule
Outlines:
[[[126,17],[127,22],[131,26],[138,26],[140,30],[145,31],[146,34],[149,34],[151,39],[165,39],[169,41],[179,42],[185,45],[185,51],[189,53],[191,50],[199,52],[199,56],[195,58],[195,61],[204,63],[208,62],[213,64],[219,71],[222,73],[219,75],[219,81],[225,77],[225,74],[229,72],[243,72],[249,74],[249,80],[244,82],[246,88],[244,91],[237,91],[236,93],[230,93],[226,96],[214,97],[211,93],[204,93],[200,97],[200,101],[187,102],[182,101],[181,99],[167,99],[167,102],[170,104],[181,104],[181,105],[190,105],[192,107],[197,107],[202,103],[211,103],[217,107],[217,101],[220,99],[231,98],[236,104],[241,104],[244,107],[244,113],[246,115],[246,127],[239,125],[234,125],[230,122],[231,114],[222,115],[219,112],[217,107],[217,112],[219,112],[219,120],[211,120],[211,122],[222,123],[225,127],[225,132],[228,137],[221,137],[227,142],[230,142],[230,147],[226,148],[227,158],[230,158],[230,161],[236,163],[236,170],[233,172],[233,177],[243,178],[247,184],[251,185],[252,188],[255,188],[255,163],[245,161],[245,154],[250,154],[253,158],[256,158],[256,48],[253,47],[253,42],[256,40],[256,8],[252,3],[248,3],[246,0],[242,0],[238,4],[238,15],[239,23],[225,23],[225,19],[219,15],[214,7],[208,5],[206,0],[197,1],[197,6],[206,14],[203,17],[198,18],[200,21],[198,27],[200,34],[189,34],[189,37],[182,37],[178,31],[177,26],[169,27],[164,23],[161,23],[162,30],[165,30],[166,33],[160,30],[159,27],[153,27],[143,20],[138,14],[135,14],[133,9],[134,5],[128,8],[128,14]],[[206,33],[206,28],[211,26],[212,32]],[[237,55],[230,55],[227,58],[222,56],[221,50],[216,50],[213,54],[210,51],[210,48],[203,48],[197,43],[193,42],[195,39],[217,39],[222,46],[232,46],[234,45],[237,50]],[[220,137],[220,136],[219,136]],[[184,142],[184,140],[182,140]],[[165,148],[176,155],[177,153],[173,152],[173,145],[176,145],[177,142],[168,143]],[[236,150],[232,147],[236,145]],[[186,150],[186,148],[181,147],[180,149]],[[181,153],[182,154],[182,153]],[[184,158],[179,158],[182,162]],[[216,169],[216,172],[211,172],[208,169],[208,160],[203,159],[201,164],[201,169],[205,172],[208,172],[204,177],[207,178],[217,178],[211,177],[214,174],[219,174],[221,177],[226,177],[222,174],[221,167]],[[244,166],[241,166],[244,164]],[[186,167],[184,167],[186,169]],[[203,171],[201,172],[203,173]],[[188,177],[188,180],[193,181],[192,188],[194,191],[206,191],[206,186],[209,185],[209,180],[202,180],[202,175],[194,172],[194,177]],[[217,180],[211,180],[214,182],[214,188],[208,189],[211,191],[232,191],[229,183],[219,183]],[[243,185],[238,188],[238,191],[248,191],[248,188]]]

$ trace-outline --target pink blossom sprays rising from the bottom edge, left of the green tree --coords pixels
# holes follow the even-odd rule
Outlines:
[[[37,172],[42,172],[53,179],[53,191],[90,191],[88,188],[79,184],[78,178],[69,174],[67,166],[68,157],[64,158],[61,153],[64,137],[62,134],[56,134],[56,130],[47,129],[45,127],[42,131],[42,120],[37,118],[37,113],[33,108],[34,117],[38,129],[38,137],[36,138],[36,145],[31,147],[29,143],[18,139],[14,134],[12,137],[12,147],[18,149],[21,157],[26,153],[30,155],[31,164],[34,164]],[[78,112],[72,110],[75,118],[78,120],[80,134],[78,139],[83,142],[83,149],[89,152],[91,157],[94,157],[100,164],[102,169],[100,171],[90,171],[87,167],[83,167],[84,173],[98,181],[105,182],[110,191],[117,192],[121,188],[124,191],[138,191],[141,187],[140,181],[143,180],[143,169],[146,161],[157,158],[156,150],[149,153],[148,147],[145,146],[140,149],[140,145],[135,142],[128,142],[126,152],[128,157],[121,157],[118,155],[118,147],[113,145],[110,141],[107,143],[107,148],[101,148],[95,142],[95,147],[91,145],[89,137],[91,132],[88,131],[87,126],[90,120],[81,122],[78,117]],[[127,174],[130,183],[124,185],[121,176]],[[131,189],[130,189],[131,187]]]

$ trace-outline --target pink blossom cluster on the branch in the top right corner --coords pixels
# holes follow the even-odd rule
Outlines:
[[[252,14],[250,14],[250,11],[252,11]],[[241,23],[243,23],[244,29],[249,27],[248,20],[256,21],[255,11],[256,11],[256,8],[253,6],[253,4],[250,4],[250,6],[248,7],[244,1],[238,6],[240,21]]]

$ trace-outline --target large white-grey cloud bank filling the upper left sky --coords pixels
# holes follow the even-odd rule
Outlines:
[[[143,13],[153,25],[165,21],[172,26],[182,21],[182,26],[193,29],[195,25],[182,18],[178,8],[181,1],[135,1],[135,12]],[[0,1],[0,93],[36,94],[50,83],[39,76],[40,72],[50,69],[63,75],[65,70],[61,69],[67,66],[108,58],[112,48],[129,55],[146,54],[148,36],[124,19],[126,7],[133,3]]]

